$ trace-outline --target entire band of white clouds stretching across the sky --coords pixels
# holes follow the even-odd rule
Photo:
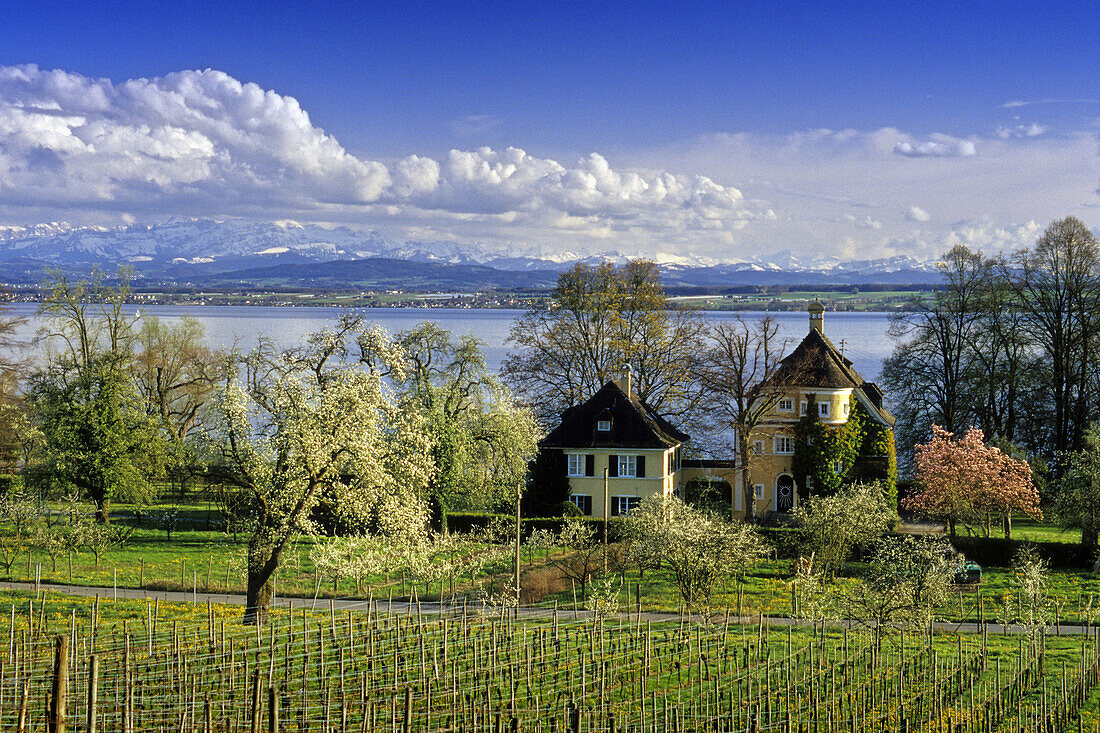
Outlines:
[[[472,139],[497,124],[452,122]],[[476,145],[370,160],[293,97],[218,70],[114,83],[0,67],[0,225],[245,217],[517,254],[934,258],[1027,245],[1068,214],[1096,226],[1098,180],[1094,131],[1042,119],[969,135],[717,132],[614,164]]]

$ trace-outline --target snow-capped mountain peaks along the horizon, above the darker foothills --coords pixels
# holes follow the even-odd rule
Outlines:
[[[556,273],[578,262],[625,262],[622,252],[584,254],[479,242],[387,241],[377,231],[296,221],[176,220],[124,227],[42,223],[0,226],[0,281],[35,282],[47,266],[74,271],[130,264],[139,276],[188,281],[238,271],[376,258],[427,265],[477,265],[508,272]],[[840,261],[807,259],[791,250],[748,260],[658,253],[667,282],[682,285],[781,282],[936,282],[930,263],[908,256]]]

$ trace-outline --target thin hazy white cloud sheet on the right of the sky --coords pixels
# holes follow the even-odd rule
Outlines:
[[[1034,243],[1031,222],[1045,227],[1074,215],[1100,225],[1094,132],[965,140],[976,155],[894,153],[900,143],[928,140],[945,142],[895,128],[716,133],[636,162],[736,183],[746,200],[777,212],[733,232],[724,251],[739,258],[792,249],[845,259],[934,259],[964,241],[992,254]]]

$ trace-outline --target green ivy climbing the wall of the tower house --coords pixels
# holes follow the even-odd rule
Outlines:
[[[893,430],[872,418],[855,395],[848,400],[847,423],[822,423],[816,402],[810,395],[806,414],[794,429],[792,472],[803,500],[807,493],[835,494],[857,481],[880,481],[888,497],[897,503]],[[805,489],[807,478],[813,485],[810,491]]]

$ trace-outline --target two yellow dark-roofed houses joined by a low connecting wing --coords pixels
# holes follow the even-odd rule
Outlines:
[[[809,332],[774,375],[791,386],[749,437],[749,474],[758,517],[792,511],[800,494],[815,490],[815,480],[821,490],[848,479],[893,480],[894,418],[882,404],[882,391],[864,380],[825,336],[825,308],[813,303],[809,314]],[[850,429],[856,426],[859,435]],[[845,428],[849,428],[845,440],[858,446],[855,453],[844,455],[857,459],[815,460],[825,458],[837,441],[821,440],[814,446],[813,436]],[[566,409],[561,424],[539,445],[543,451],[562,453],[570,501],[586,515],[604,516],[605,497],[607,515],[615,516],[658,492],[679,495],[689,482],[725,485],[724,494],[733,493],[734,515],[744,515],[737,458],[683,459],[688,440],[686,434],[634,393],[627,373]]]

